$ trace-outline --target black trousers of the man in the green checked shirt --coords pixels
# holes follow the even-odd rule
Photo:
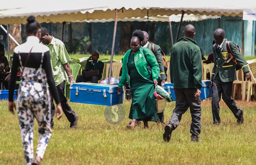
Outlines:
[[[57,85],[56,88],[57,88],[57,92],[59,94],[60,103],[62,106],[63,113],[66,115],[69,122],[73,122],[73,121],[75,121],[76,116],[75,116],[75,112],[71,110],[71,107],[68,104],[68,100],[64,95],[65,85],[66,85],[65,81],[63,81],[62,83]],[[53,103],[53,97],[52,97],[51,90],[50,90],[50,94],[51,94],[51,100],[52,100],[51,101],[51,126],[53,127],[53,125],[54,125],[53,117],[55,115],[55,106]]]

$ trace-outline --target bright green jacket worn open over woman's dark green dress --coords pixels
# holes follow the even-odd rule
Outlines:
[[[140,47],[140,49],[134,54],[135,66],[138,72],[140,73],[140,75],[144,79],[148,79],[152,77],[153,80],[157,80],[158,74],[159,74],[159,66],[156,61],[156,57],[151,50],[144,48],[144,53],[146,55],[146,58],[145,58],[142,50],[143,48]],[[128,50],[123,57],[122,76],[118,83],[118,87],[120,88],[122,88],[122,86],[125,85],[126,81],[128,81],[128,83],[130,84],[130,80],[129,80],[130,78],[128,75],[129,71],[127,69],[127,62],[128,62],[130,53],[131,53],[131,50]],[[150,72],[147,70],[148,65],[150,65],[152,69],[152,74],[150,74]]]

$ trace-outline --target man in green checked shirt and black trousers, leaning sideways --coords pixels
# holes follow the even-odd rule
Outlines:
[[[75,128],[77,126],[78,115],[76,115],[75,112],[71,110],[67,98],[64,95],[64,89],[66,85],[65,81],[69,79],[70,83],[75,83],[73,76],[71,75],[68,63],[69,61],[71,61],[70,56],[65,48],[64,43],[61,40],[54,38],[53,36],[50,36],[46,28],[41,28],[41,36],[42,37],[40,40],[42,44],[46,45],[50,49],[53,78],[58,90],[63,112],[70,122],[70,128]],[[51,126],[53,128],[55,106],[53,103],[53,98],[51,99]]]

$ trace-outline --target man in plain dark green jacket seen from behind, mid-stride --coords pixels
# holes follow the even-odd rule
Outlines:
[[[177,40],[171,48],[170,78],[175,93],[175,109],[163,133],[163,140],[169,142],[171,133],[177,128],[182,115],[190,109],[192,122],[190,125],[191,141],[202,142],[199,139],[201,132],[201,81],[202,56],[200,48],[193,40],[195,27],[185,26],[184,37]]]

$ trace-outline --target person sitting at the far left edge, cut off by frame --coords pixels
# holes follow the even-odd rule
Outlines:
[[[4,56],[4,46],[0,43],[0,79],[1,79],[1,90],[8,89],[8,82],[4,81],[5,77],[9,75],[10,66],[7,58]],[[5,87],[5,88],[4,88]]]

